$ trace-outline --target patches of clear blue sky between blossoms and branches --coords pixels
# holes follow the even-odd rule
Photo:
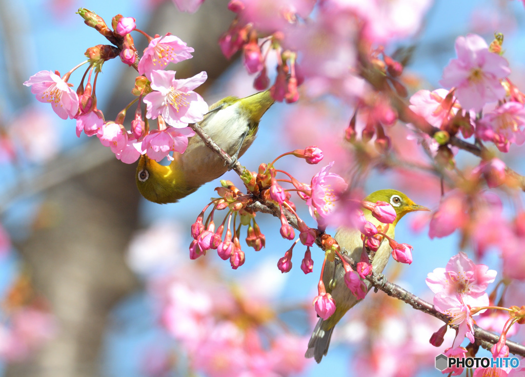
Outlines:
[[[208,0],[213,1],[213,0]],[[525,48],[522,33],[523,19],[523,4],[519,1],[508,2],[511,12],[517,14],[518,25],[520,25],[519,32],[509,34],[506,36],[504,47],[508,50],[508,57],[511,61],[511,67],[516,70],[522,69],[519,62],[525,61]],[[440,78],[441,71],[446,65],[448,59],[454,57],[453,44],[454,39],[458,35],[465,35],[469,31],[470,14],[474,9],[488,9],[490,1],[468,0],[460,2],[437,1],[433,8],[429,11],[426,18],[424,33],[418,38],[418,45],[415,52],[415,59],[410,67],[410,70],[417,72],[428,80],[428,88],[433,88],[437,85]],[[91,45],[103,43],[103,39],[94,30],[84,26],[78,15],[72,12],[65,14],[62,18],[57,19],[49,12],[47,3],[45,1],[25,0],[15,4],[9,5],[14,14],[20,17],[20,39],[24,42],[24,64],[22,67],[26,69],[27,78],[39,70],[54,70],[58,69],[64,74],[68,69],[74,67],[77,63],[82,61],[83,53],[86,48]],[[97,10],[104,19],[109,20],[113,15],[121,13],[123,15],[134,16],[139,19],[139,15],[147,13],[145,6],[137,5],[136,2],[124,1],[100,1],[90,0],[82,4],[77,4],[76,7],[86,7]],[[146,19],[142,21],[146,24]],[[488,37],[489,36],[485,36]],[[436,42],[443,42],[448,44],[448,47],[442,53],[437,53],[432,57],[424,54],[418,54],[418,51],[425,51],[427,44],[434,44]],[[2,41],[3,43],[3,41]],[[66,48],[64,46],[67,46]],[[106,64],[104,66],[105,77],[111,77],[113,72],[120,68],[121,64]],[[2,67],[8,68],[8,67]],[[0,83],[3,87],[8,87],[10,82],[6,82],[8,78],[0,77]],[[109,80],[108,80],[109,81]],[[109,93],[108,90],[110,82],[100,80],[101,85],[97,89],[99,95],[99,103],[104,101],[104,92]],[[106,83],[104,83],[106,82]],[[105,86],[104,86],[105,85]],[[23,92],[24,93],[24,92]],[[29,91],[26,90],[23,98],[19,96],[2,95],[2,107],[5,114],[13,116],[20,109],[21,106],[26,105],[29,101]],[[44,105],[41,105],[44,107]],[[51,112],[49,106],[45,106],[46,111]],[[260,128],[259,135],[255,145],[266,145],[275,140],[276,128],[272,124],[278,124],[282,116],[281,111],[284,105],[276,105],[265,115],[265,121],[269,124],[268,127]],[[79,143],[75,136],[75,122],[64,121],[63,128],[61,128],[62,140],[66,147],[71,147]],[[286,150],[278,151],[286,152]],[[263,157],[264,156],[264,157]],[[264,150],[260,148],[250,149],[250,152],[243,158],[243,164],[247,166],[256,166],[261,160],[269,160],[273,155],[265,156]],[[519,170],[521,166],[514,166]],[[225,179],[235,179],[234,173],[230,172]],[[369,192],[384,188],[390,185],[381,176],[375,176],[369,181],[366,188]],[[158,206],[145,200],[141,203],[141,213],[144,224],[150,223],[156,218],[176,218],[180,222],[193,222],[197,216],[200,208],[196,203],[205,203],[211,196],[211,192],[217,182],[211,182],[199,189],[197,193],[191,197],[181,200],[180,203],[171,204],[167,206]],[[392,187],[395,188],[395,187]],[[422,204],[428,204],[422,202]],[[17,208],[19,211],[22,207]],[[32,206],[27,207],[29,213]],[[307,218],[307,215],[304,215]],[[408,218],[408,217],[407,217]],[[407,219],[408,220],[408,219]],[[23,223],[24,219],[7,218],[8,222]],[[264,219],[261,224],[267,225],[267,228],[275,227],[276,219]],[[404,281],[414,288],[414,293],[421,294],[425,292],[426,286],[424,279],[428,272],[432,271],[436,266],[445,266],[449,257],[457,252],[457,238],[449,236],[446,239],[429,240],[425,232],[421,234],[413,234],[408,229],[408,221],[403,221],[396,228],[396,239],[400,242],[409,242],[414,246],[414,263],[405,268]],[[189,238],[187,244],[189,244]],[[266,258],[277,261],[282,256],[285,250],[289,247],[289,242],[282,240],[280,237],[268,237],[267,246],[264,254],[257,254],[248,252],[247,263],[243,266],[244,269],[249,270],[257,263],[261,263]],[[319,250],[312,251],[315,255]],[[496,263],[494,260],[493,262]],[[298,263],[297,263],[298,264]],[[228,267],[228,266],[226,266]],[[304,298],[311,299],[312,292],[316,286],[316,279],[319,276],[320,263],[314,266],[313,274],[305,277],[298,268],[295,268],[290,273],[287,281],[286,291],[282,293],[284,299],[287,298]],[[5,271],[5,270],[4,270]],[[9,270],[12,271],[12,270]],[[229,268],[226,268],[228,274],[232,274]],[[4,279],[6,274],[1,274]],[[2,282],[0,281],[0,284]],[[306,288],[307,287],[307,288]],[[154,327],[154,318],[152,313],[148,310],[148,299],[144,293],[138,292],[133,296],[123,300],[114,311],[114,320],[117,323],[123,321],[126,325],[119,331],[117,328],[111,328],[108,332],[108,338],[104,350],[106,351],[102,356],[104,370],[110,376],[126,375],[128,377],[139,377],[141,374],[134,368],[138,358],[130,357],[134,353],[140,353],[142,346],[150,342],[169,341],[162,335],[160,331]],[[348,375],[348,349],[333,348],[330,350],[328,356],[320,365],[315,365],[306,376],[316,376],[330,374],[332,376]],[[430,372],[432,373],[432,372]]]

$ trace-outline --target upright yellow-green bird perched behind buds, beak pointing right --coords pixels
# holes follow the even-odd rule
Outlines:
[[[392,224],[389,225],[385,234],[394,238],[394,229],[397,222],[405,216],[405,214],[413,211],[430,211],[428,208],[419,206],[409,199],[403,192],[386,189],[372,192],[367,196],[365,201],[377,202],[384,201],[390,203],[396,212],[396,219]],[[372,216],[372,212],[367,209],[363,209],[364,217],[367,221],[372,222],[374,225],[384,225],[379,220]],[[353,261],[359,262],[361,253],[363,250],[363,241],[361,239],[361,232],[358,229],[339,228],[335,233],[334,239],[341,246],[341,251],[346,253]],[[372,269],[376,273],[381,273],[392,249],[388,240],[383,238],[379,249],[375,252],[372,259]],[[338,258],[334,261],[326,261],[323,270],[323,283],[327,293],[332,295],[335,300],[335,312],[326,320],[319,318],[316,327],[312,332],[310,341],[308,342],[308,350],[304,354],[306,358],[314,358],[318,363],[321,362],[323,356],[328,352],[330,346],[330,338],[332,337],[332,331],[334,326],[344,316],[346,311],[350,310],[359,301],[344,283],[344,268]],[[365,280],[364,283],[367,286],[367,290],[371,289],[369,281]]]

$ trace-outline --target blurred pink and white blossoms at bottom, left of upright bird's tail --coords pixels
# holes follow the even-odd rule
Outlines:
[[[146,277],[156,323],[176,342],[172,349],[144,352],[148,375],[182,373],[183,368],[188,368],[184,374],[209,377],[302,372],[308,365],[303,357],[307,339],[283,329],[285,322],[272,306],[284,280],[275,267],[261,263],[232,282],[210,259],[188,261],[181,237],[180,225],[164,222],[130,245],[128,260]],[[261,285],[260,279],[271,283]]]

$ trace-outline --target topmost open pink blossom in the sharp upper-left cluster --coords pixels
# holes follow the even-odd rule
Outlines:
[[[139,61],[139,73],[151,81],[154,70],[163,70],[169,63],[191,59],[193,51],[193,48],[186,46],[186,42],[174,35],[154,38],[144,49],[144,55]]]

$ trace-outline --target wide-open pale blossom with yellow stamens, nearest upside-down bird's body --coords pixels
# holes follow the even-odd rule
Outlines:
[[[208,112],[208,104],[193,89],[206,81],[206,72],[189,79],[175,79],[175,71],[152,71],[151,88],[153,92],[144,97],[146,117],[156,119],[162,115],[167,124],[183,128],[187,123],[203,120]]]

